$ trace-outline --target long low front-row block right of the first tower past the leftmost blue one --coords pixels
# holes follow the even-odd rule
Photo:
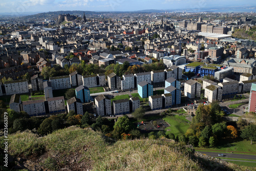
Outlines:
[[[114,115],[123,115],[130,113],[129,99],[121,99],[113,101]]]

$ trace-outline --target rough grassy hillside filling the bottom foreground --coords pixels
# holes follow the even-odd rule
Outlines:
[[[3,149],[4,138],[0,139]],[[31,132],[9,135],[9,154],[16,157],[9,165],[14,166],[16,162],[19,167],[14,168],[26,167],[29,170],[248,169],[202,154],[194,154],[192,148],[168,139],[114,142],[98,132],[76,126],[55,131],[45,137]],[[9,170],[3,166],[0,168]]]

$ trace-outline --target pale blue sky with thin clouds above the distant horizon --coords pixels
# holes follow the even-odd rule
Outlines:
[[[0,12],[137,11],[146,9],[205,9],[209,7],[256,6],[255,0],[1,0]],[[250,11],[248,11],[250,12]]]

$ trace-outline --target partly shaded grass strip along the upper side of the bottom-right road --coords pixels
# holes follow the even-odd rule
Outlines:
[[[216,152],[233,152],[236,154],[246,154],[246,155],[250,155],[251,153],[255,153],[255,154],[251,154],[251,155],[256,155],[256,143],[251,144],[251,141],[248,140],[240,140],[240,139],[223,139],[219,146],[217,147],[212,147],[212,148],[196,148],[195,149],[201,149],[203,151],[207,151],[207,152],[212,152],[212,150],[216,151]],[[249,153],[244,153],[244,152],[249,152]]]

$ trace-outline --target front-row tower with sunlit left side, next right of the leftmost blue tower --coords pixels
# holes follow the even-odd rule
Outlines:
[[[95,97],[95,106],[98,115],[112,115],[111,100],[107,96],[101,94]]]

